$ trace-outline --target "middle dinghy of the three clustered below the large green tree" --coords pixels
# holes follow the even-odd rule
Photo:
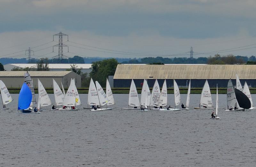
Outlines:
[[[94,108],[91,111],[112,110],[113,108],[102,108],[104,105],[108,104],[108,97],[105,94],[103,88],[100,86],[98,81],[95,82],[95,85],[96,85],[96,91],[98,94],[98,102],[97,103],[100,104],[100,108]]]

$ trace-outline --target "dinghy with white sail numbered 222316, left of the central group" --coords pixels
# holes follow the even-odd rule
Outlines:
[[[132,106],[133,108],[129,108],[129,106]],[[137,89],[133,79],[130,87],[128,108],[122,108],[122,109],[140,109],[139,96],[138,96]]]

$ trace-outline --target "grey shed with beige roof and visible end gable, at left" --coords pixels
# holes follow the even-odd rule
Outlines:
[[[21,87],[24,83],[24,74],[26,71],[0,71],[0,80],[6,87]],[[38,86],[39,79],[45,88],[53,87],[54,79],[61,87],[69,87],[71,78],[75,78],[76,87],[81,87],[81,76],[73,71],[29,71],[34,87]]]

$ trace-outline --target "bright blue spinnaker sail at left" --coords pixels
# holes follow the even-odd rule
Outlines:
[[[18,102],[18,110],[27,109],[31,103],[32,94],[26,83],[23,83],[20,89],[19,102]]]

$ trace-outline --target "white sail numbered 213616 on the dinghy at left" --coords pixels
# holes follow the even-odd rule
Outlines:
[[[76,88],[75,81],[71,79],[68,91],[64,97],[63,106],[76,106]]]

